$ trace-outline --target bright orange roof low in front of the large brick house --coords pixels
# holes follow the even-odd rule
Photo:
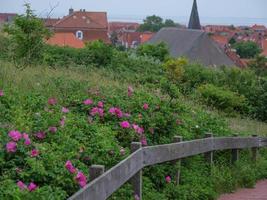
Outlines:
[[[85,46],[83,41],[77,39],[73,33],[55,33],[47,40],[47,44],[73,48],[83,48]]]

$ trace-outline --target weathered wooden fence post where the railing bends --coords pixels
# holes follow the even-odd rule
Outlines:
[[[131,144],[131,152],[135,152],[138,149],[142,148],[141,142],[132,142]],[[142,200],[142,170],[137,172],[130,180],[133,190],[134,190],[134,196],[136,199]]]

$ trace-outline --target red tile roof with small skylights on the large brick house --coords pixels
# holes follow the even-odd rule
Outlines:
[[[54,24],[55,28],[107,29],[106,12],[75,11]]]

